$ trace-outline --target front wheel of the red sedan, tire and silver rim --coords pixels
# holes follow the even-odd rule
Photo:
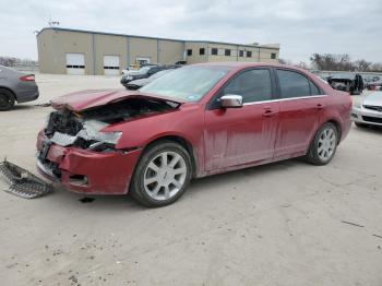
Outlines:
[[[164,140],[150,146],[140,158],[130,192],[145,206],[165,206],[184,193],[191,177],[190,154],[181,145]]]

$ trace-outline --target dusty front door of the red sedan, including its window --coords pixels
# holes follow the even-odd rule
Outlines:
[[[205,112],[206,170],[229,168],[273,157],[279,104],[274,102],[272,74],[258,68],[240,72],[217,93],[241,95],[241,108],[220,108],[218,99]]]

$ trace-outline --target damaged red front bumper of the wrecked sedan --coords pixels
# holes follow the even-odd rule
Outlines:
[[[38,154],[43,141],[38,134]],[[68,190],[88,194],[124,194],[141,150],[98,153],[51,144],[45,159],[37,156],[37,169],[46,178],[62,183]]]

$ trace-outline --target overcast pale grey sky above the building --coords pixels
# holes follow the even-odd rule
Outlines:
[[[313,52],[382,62],[381,0],[0,0],[0,56],[37,59],[34,31],[61,27],[179,39],[280,44],[280,58]]]

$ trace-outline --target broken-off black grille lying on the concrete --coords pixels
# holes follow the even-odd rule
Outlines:
[[[4,159],[0,163],[0,177],[9,184],[4,191],[33,199],[52,192],[52,186],[32,172]]]

